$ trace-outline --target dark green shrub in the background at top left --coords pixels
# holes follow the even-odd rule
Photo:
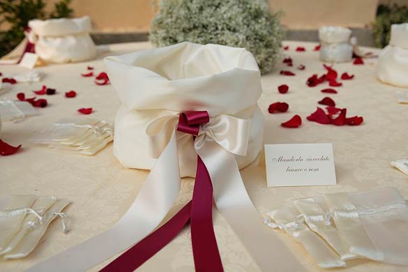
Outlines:
[[[69,8],[72,0],[61,0],[55,3],[50,15],[44,11],[43,0],[0,0],[0,24],[7,22],[10,28],[0,31],[0,56],[7,54],[24,39],[24,28],[29,20],[70,17],[73,10]]]

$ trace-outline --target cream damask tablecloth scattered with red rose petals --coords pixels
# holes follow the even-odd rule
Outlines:
[[[333,143],[338,185],[268,188],[262,154],[259,165],[250,165],[241,171],[249,195],[262,216],[266,216],[269,209],[291,199],[330,192],[395,186],[407,199],[408,176],[390,165],[390,161],[396,158],[408,158],[408,105],[398,104],[395,98],[395,90],[400,88],[381,84],[376,79],[376,59],[366,59],[365,64],[360,66],[352,63],[335,64],[334,67],[339,73],[347,71],[355,77],[353,80],[342,81],[343,86],[336,88],[339,93],[331,97],[339,107],[347,107],[348,116],[363,116],[364,123],[361,126],[338,127],[307,121],[306,116],[315,111],[317,101],[324,98],[325,95],[320,90],[326,88],[326,84],[310,88],[305,82],[313,73],[322,75],[325,70],[319,61],[319,52],[313,51],[315,44],[285,42],[284,45],[289,45],[289,50],[284,53],[292,57],[294,66],[288,68],[284,63],[279,63],[273,73],[262,76],[263,93],[259,106],[266,117],[264,142]],[[296,52],[296,46],[304,46],[306,52]],[[107,54],[123,54],[150,47],[149,43],[110,45],[111,52]],[[377,52],[375,49],[370,51]],[[305,65],[305,70],[297,70],[296,66],[299,64]],[[45,129],[59,119],[84,118],[85,116],[77,112],[80,107],[93,107],[94,113],[91,117],[114,121],[120,103],[112,85],[97,86],[92,77],[81,77],[80,73],[86,73],[86,66],[93,66],[96,73],[105,70],[102,56],[98,60],[85,63],[43,66],[36,68],[45,73],[42,82],[16,84],[10,91],[0,95],[0,99],[15,99],[18,92],[29,94],[32,90],[41,89],[43,84],[57,91],[56,95],[46,97],[49,105],[40,109],[39,116],[21,123],[3,123],[1,139],[13,145],[22,144],[22,149],[13,156],[0,158],[0,195],[55,195],[73,201],[66,209],[71,218],[72,231],[69,234],[63,234],[59,219],[54,220],[38,248],[29,257],[0,262],[0,271],[26,269],[114,225],[133,202],[148,174],[147,171],[121,167],[113,156],[112,144],[96,156],[88,157],[36,146],[29,142],[35,131]],[[296,76],[280,75],[280,70],[292,70]],[[27,69],[0,66],[0,72],[21,73],[27,72]],[[280,84],[288,84],[289,92],[278,93]],[[70,90],[77,91],[76,98],[65,98],[63,93]],[[276,101],[289,103],[289,111],[269,114],[269,105]],[[280,123],[287,121],[294,114],[302,117],[302,126],[296,129],[281,128]],[[179,198],[166,220],[190,200],[193,184],[193,179],[183,179]],[[259,271],[239,238],[215,208],[214,225],[225,270]],[[275,230],[271,229],[271,232]],[[319,269],[300,244],[282,232],[277,233],[308,271],[324,271]],[[273,246],[271,245],[271,248]],[[107,262],[91,271],[97,271]],[[285,259],[280,262],[285,262]],[[408,270],[406,267],[390,264],[358,262],[349,264],[342,271],[404,269]],[[183,229],[172,243],[146,262],[139,271],[194,271],[190,229]]]

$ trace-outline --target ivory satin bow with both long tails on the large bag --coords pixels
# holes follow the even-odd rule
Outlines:
[[[179,192],[177,140],[191,137],[175,130],[177,119],[179,116],[161,117],[146,129],[156,143],[153,153],[161,154],[125,216],[106,232],[28,271],[84,271],[139,242],[158,226]],[[234,154],[245,155],[249,127],[249,120],[225,114],[200,126],[195,150],[208,169],[216,206],[262,271],[304,271],[286,245],[264,225],[243,185]],[[165,140],[168,135],[169,142]]]

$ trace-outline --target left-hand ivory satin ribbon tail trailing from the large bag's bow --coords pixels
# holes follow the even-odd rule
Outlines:
[[[137,156],[137,154],[135,154]],[[172,208],[180,190],[176,132],[147,176],[135,202],[110,229],[27,269],[86,271],[148,236]]]

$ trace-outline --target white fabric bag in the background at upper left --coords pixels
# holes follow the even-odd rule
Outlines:
[[[86,61],[96,57],[96,46],[89,36],[88,16],[29,21],[29,41],[36,44],[36,54],[50,63]]]

